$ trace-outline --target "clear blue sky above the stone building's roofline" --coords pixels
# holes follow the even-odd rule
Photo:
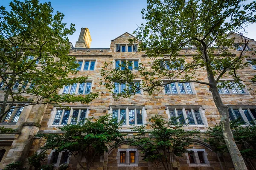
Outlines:
[[[133,31],[145,22],[140,13],[147,0],[40,0],[50,1],[55,11],[65,15],[63,22],[75,24],[76,32],[69,36],[75,46],[81,28],[89,28],[90,48],[109,48],[111,40]],[[252,0],[247,0],[250,3]],[[0,0],[0,6],[9,10],[11,0]],[[256,23],[248,26],[246,37],[256,40]]]

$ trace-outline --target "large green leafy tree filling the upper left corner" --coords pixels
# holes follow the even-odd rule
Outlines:
[[[59,95],[64,85],[85,82],[87,77],[68,78],[76,74],[76,58],[68,56],[67,35],[74,33],[74,24],[66,28],[64,15],[53,14],[51,3],[38,0],[14,0],[11,11],[0,7],[0,93],[4,94],[0,119],[10,109],[8,102],[28,105],[88,103],[97,94]]]

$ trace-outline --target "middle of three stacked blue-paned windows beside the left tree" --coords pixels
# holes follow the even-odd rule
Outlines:
[[[91,92],[92,82],[74,83],[66,85],[63,94],[89,94]]]

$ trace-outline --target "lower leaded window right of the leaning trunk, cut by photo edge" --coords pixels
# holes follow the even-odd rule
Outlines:
[[[231,121],[240,120],[241,125],[253,125],[256,123],[256,107],[232,107],[228,109]]]

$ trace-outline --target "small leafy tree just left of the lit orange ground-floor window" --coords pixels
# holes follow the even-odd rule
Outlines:
[[[119,131],[121,125],[122,122],[116,123],[116,119],[108,114],[99,119],[86,119],[85,123],[66,125],[60,128],[64,132],[62,134],[43,135],[47,142],[42,149],[67,151],[75,157],[83,170],[89,170],[96,155],[101,156],[108,152],[108,148],[116,147],[124,140]],[[86,159],[86,168],[81,164],[82,156]]]

